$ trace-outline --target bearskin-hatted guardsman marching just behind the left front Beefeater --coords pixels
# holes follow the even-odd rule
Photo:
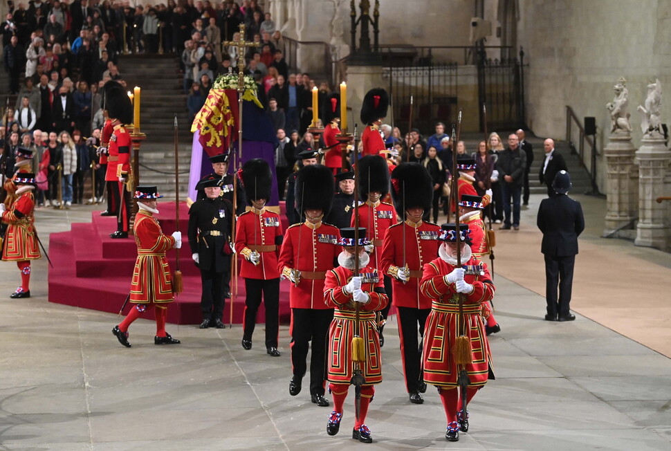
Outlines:
[[[323,223],[333,201],[333,172],[322,165],[304,166],[296,177],[296,201],[305,222],[286,230],[279,252],[282,278],[291,282],[291,365],[293,377],[289,394],[300,393],[306,371],[308,349],[310,358],[310,394],[313,403],[328,407],[324,398],[326,375],[326,340],[333,308],[324,304],[324,279],[340,255],[340,230]],[[312,346],[310,346],[312,341]]]

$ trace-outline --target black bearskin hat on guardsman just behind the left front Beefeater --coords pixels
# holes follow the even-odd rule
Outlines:
[[[324,165],[304,166],[296,176],[296,210],[323,210],[324,216],[331,211],[335,181],[333,172]]]

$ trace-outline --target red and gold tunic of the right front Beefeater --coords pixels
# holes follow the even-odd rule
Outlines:
[[[479,265],[481,262],[471,258],[466,264]],[[457,387],[458,368],[452,356],[452,348],[457,339],[459,305],[454,284],[445,284],[443,277],[453,269],[454,266],[439,257],[424,265],[420,284],[422,293],[433,300],[424,332],[424,380],[438,387]],[[491,367],[489,342],[480,312],[481,303],[494,297],[494,284],[486,264],[483,264],[483,269],[484,275],[467,274],[463,277],[474,288],[470,295],[463,295],[466,335],[470,338],[473,356],[473,362],[466,365],[471,387],[485,385]]]

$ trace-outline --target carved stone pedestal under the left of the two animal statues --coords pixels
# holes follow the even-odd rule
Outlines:
[[[636,147],[632,144],[630,134],[611,134],[603,153],[606,160],[607,198],[604,234],[607,235],[627,226],[636,217],[638,180],[632,180]]]

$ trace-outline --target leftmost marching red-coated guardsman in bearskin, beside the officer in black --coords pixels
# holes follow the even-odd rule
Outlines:
[[[240,215],[235,228],[235,251],[244,257],[240,275],[245,279],[245,313],[242,347],[252,349],[252,334],[261,297],[266,309],[266,353],[279,357],[279,269],[282,246],[279,214],[266,210],[273,173],[266,160],[255,158],[242,167],[241,183],[252,209]]]

